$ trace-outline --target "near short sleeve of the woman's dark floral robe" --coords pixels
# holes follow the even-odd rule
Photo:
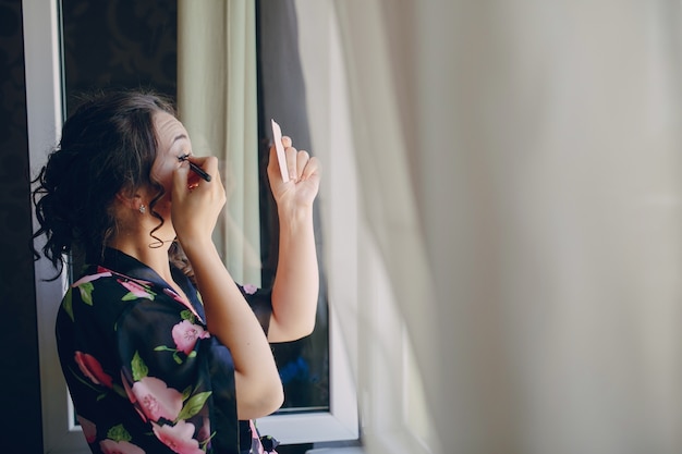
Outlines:
[[[125,393],[159,440],[187,452],[238,446],[232,356],[191,310],[167,295],[139,298],[119,319],[117,346]]]

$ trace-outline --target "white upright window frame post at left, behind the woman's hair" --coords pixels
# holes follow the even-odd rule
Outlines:
[[[58,0],[24,0],[22,12],[28,161],[35,175],[47,162],[47,154],[57,143],[63,122]],[[33,222],[35,230],[38,228],[35,213]],[[44,240],[38,238],[34,247],[39,249],[42,244]],[[54,343],[54,320],[68,286],[68,273],[64,270],[56,280],[48,281],[53,277],[49,260],[41,258],[35,262],[44,452],[88,453],[82,430],[73,424],[71,400]]]

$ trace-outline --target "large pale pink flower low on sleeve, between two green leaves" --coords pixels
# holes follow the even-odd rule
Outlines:
[[[154,377],[145,377],[133,384],[131,390],[144,416],[153,421],[166,418],[175,420],[182,409],[182,394]]]

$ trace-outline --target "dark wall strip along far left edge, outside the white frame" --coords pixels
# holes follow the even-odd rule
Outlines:
[[[21,0],[0,0],[0,311],[3,452],[42,452],[31,253],[28,139]],[[9,437],[8,434],[12,434]]]

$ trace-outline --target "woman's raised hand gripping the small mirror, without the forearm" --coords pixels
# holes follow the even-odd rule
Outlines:
[[[268,179],[277,206],[280,210],[310,208],[319,191],[319,160],[310,157],[307,151],[296,150],[288,136],[282,137],[282,145],[287,156],[289,181],[282,180],[275,146],[270,147],[268,162]]]

